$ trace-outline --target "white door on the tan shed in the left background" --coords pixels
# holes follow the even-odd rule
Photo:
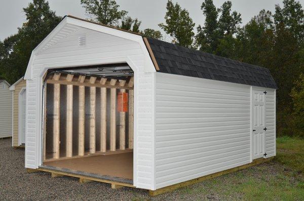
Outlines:
[[[25,107],[26,92],[22,90],[19,96],[19,138],[20,144],[25,144]]]

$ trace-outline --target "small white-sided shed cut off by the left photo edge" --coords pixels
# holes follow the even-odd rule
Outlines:
[[[0,79],[0,138],[12,137],[12,92],[11,85]]]

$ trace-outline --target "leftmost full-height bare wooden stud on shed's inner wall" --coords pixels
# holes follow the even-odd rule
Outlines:
[[[60,147],[60,84],[54,85],[53,158],[59,158]]]

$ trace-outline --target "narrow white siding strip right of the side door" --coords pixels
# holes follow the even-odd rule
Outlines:
[[[266,157],[272,157],[276,155],[276,90],[266,91]]]

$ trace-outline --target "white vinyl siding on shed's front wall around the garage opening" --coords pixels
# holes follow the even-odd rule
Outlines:
[[[37,168],[41,165],[41,109],[43,72],[48,68],[75,67],[95,62],[115,63],[128,58],[134,64],[134,185],[150,189],[153,184],[153,87],[154,73],[144,72],[145,56],[141,46],[122,37],[66,24],[64,28],[73,28],[62,41],[46,46],[45,50],[33,58],[31,77],[27,80],[27,139],[26,167]],[[86,44],[79,46],[79,36],[86,36]],[[126,60],[125,60],[126,61]],[[55,67],[52,67],[55,66]],[[131,65],[130,65],[131,66]],[[131,66],[133,68],[134,66]],[[37,86],[41,86],[37,89]],[[136,99],[137,97],[137,99]],[[38,106],[37,106],[38,105]],[[137,111],[135,111],[137,108]],[[136,134],[135,134],[136,133]],[[35,158],[38,158],[35,160]]]

